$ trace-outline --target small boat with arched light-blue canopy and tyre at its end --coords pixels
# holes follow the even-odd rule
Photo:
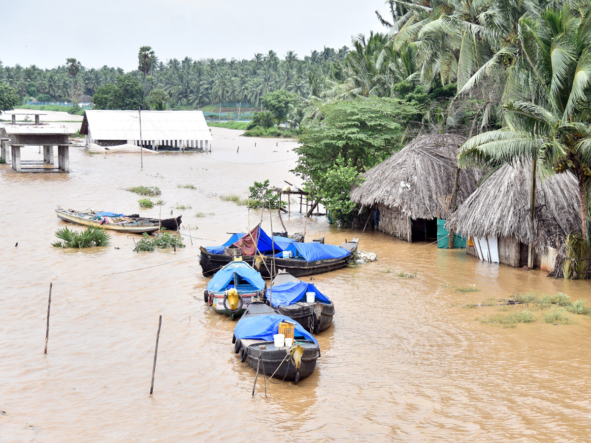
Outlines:
[[[266,288],[261,274],[238,258],[213,276],[203,300],[216,312],[238,318],[254,298],[263,299]]]

